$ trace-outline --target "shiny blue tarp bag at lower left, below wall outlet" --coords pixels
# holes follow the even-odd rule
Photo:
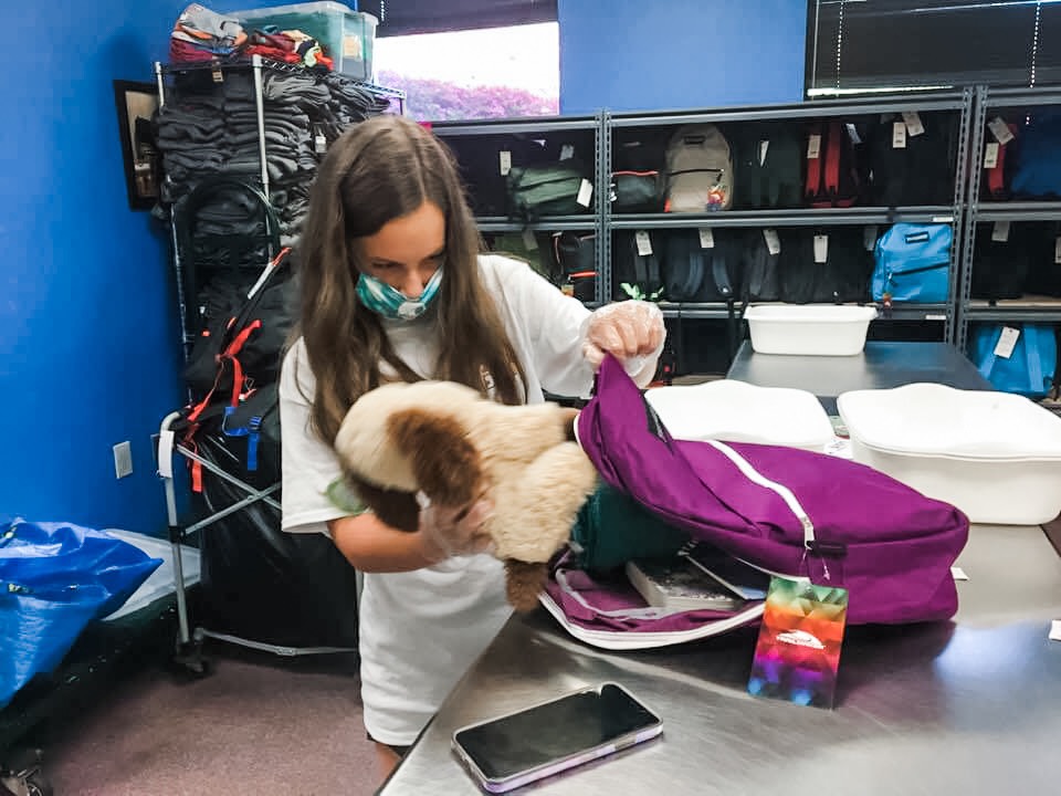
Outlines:
[[[0,708],[161,563],[103,531],[0,517]]]

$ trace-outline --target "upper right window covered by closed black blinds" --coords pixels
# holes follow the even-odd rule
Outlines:
[[[807,93],[1061,80],[1061,0],[812,0]]]

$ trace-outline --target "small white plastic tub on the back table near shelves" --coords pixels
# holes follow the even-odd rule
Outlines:
[[[757,354],[854,356],[865,347],[876,307],[833,304],[758,304],[744,318]]]

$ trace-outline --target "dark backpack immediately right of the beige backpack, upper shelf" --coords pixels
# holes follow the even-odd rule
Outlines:
[[[795,208],[802,195],[802,154],[798,127],[749,124],[731,135],[734,207]]]

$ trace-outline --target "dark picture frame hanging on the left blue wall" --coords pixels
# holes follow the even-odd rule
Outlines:
[[[158,109],[154,83],[114,81],[125,186],[132,210],[150,210],[158,201],[161,168],[151,118]]]

